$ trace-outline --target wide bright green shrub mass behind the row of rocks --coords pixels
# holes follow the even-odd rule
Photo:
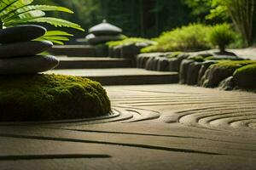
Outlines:
[[[200,51],[211,48],[207,42],[207,34],[211,31],[211,26],[201,24],[190,24],[166,31],[160,37],[154,38],[157,42],[153,46],[143,48],[142,53],[167,52],[167,51]]]

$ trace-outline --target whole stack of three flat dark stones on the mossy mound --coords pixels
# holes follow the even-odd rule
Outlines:
[[[34,74],[59,65],[50,55],[38,55],[52,48],[49,41],[32,41],[44,36],[42,26],[15,26],[0,30],[0,75]]]

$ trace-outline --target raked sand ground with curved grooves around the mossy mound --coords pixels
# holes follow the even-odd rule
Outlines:
[[[113,116],[2,123],[0,169],[256,168],[256,94],[177,84],[106,89]]]

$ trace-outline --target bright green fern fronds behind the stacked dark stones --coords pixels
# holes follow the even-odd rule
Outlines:
[[[34,5],[34,0],[1,0],[0,1],[0,29],[10,26],[26,25],[28,23],[47,23],[55,27],[70,27],[84,31],[81,26],[73,22],[54,17],[45,17],[47,11],[58,11],[73,14],[73,11],[59,6]],[[63,44],[72,34],[66,31],[48,31],[38,40],[49,40]]]

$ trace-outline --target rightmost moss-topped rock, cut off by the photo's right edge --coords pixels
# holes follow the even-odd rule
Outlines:
[[[234,81],[239,88],[256,89],[256,64],[243,66],[234,73]]]

